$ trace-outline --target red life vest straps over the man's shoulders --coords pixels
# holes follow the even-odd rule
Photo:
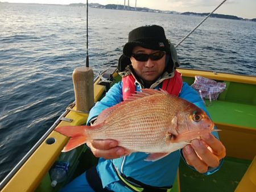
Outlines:
[[[135,78],[132,74],[122,78],[123,82],[123,101],[127,99],[131,94],[134,94],[136,91]],[[183,81],[181,78],[181,73],[175,70],[174,77],[168,78],[163,81],[162,89],[166,90],[171,95],[178,96],[180,94]]]

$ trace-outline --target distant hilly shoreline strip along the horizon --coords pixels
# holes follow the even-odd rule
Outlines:
[[[1,2],[0,3],[9,3],[9,2]],[[22,3],[22,4],[41,4],[41,5],[61,5],[61,4],[44,4],[44,3]],[[71,3],[69,5],[63,6],[76,6],[76,7],[86,7],[85,3]],[[89,7],[91,8],[98,8],[98,9],[112,9],[112,10],[129,10],[129,11],[141,11],[141,12],[155,12],[155,13],[164,13],[164,14],[179,14],[179,15],[193,15],[193,16],[207,16],[209,12],[198,13],[198,12],[177,12],[177,11],[162,11],[162,10],[155,10],[149,9],[147,7],[131,7],[131,6],[123,6],[117,4],[108,4],[108,5],[101,5],[99,3],[89,3]],[[233,19],[233,20],[246,20],[251,22],[256,22],[256,18],[253,19],[246,19],[240,18],[234,15],[224,15],[224,14],[212,14],[210,15],[211,18],[222,18],[222,19]]]

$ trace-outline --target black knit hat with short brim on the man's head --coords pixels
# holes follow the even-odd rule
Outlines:
[[[170,43],[166,39],[163,27],[160,26],[143,26],[129,32],[128,43],[123,47],[123,53],[130,57],[133,48],[136,46],[166,51],[170,55]]]

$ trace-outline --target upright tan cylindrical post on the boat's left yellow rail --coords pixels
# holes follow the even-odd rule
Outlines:
[[[93,70],[89,67],[81,66],[73,71],[77,111],[89,112],[94,105],[93,78]]]

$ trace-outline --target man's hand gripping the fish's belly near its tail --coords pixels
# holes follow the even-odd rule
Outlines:
[[[105,159],[119,158],[128,155],[129,152],[125,148],[119,147],[118,142],[112,139],[91,140],[86,143],[90,147],[92,153],[96,157]]]

